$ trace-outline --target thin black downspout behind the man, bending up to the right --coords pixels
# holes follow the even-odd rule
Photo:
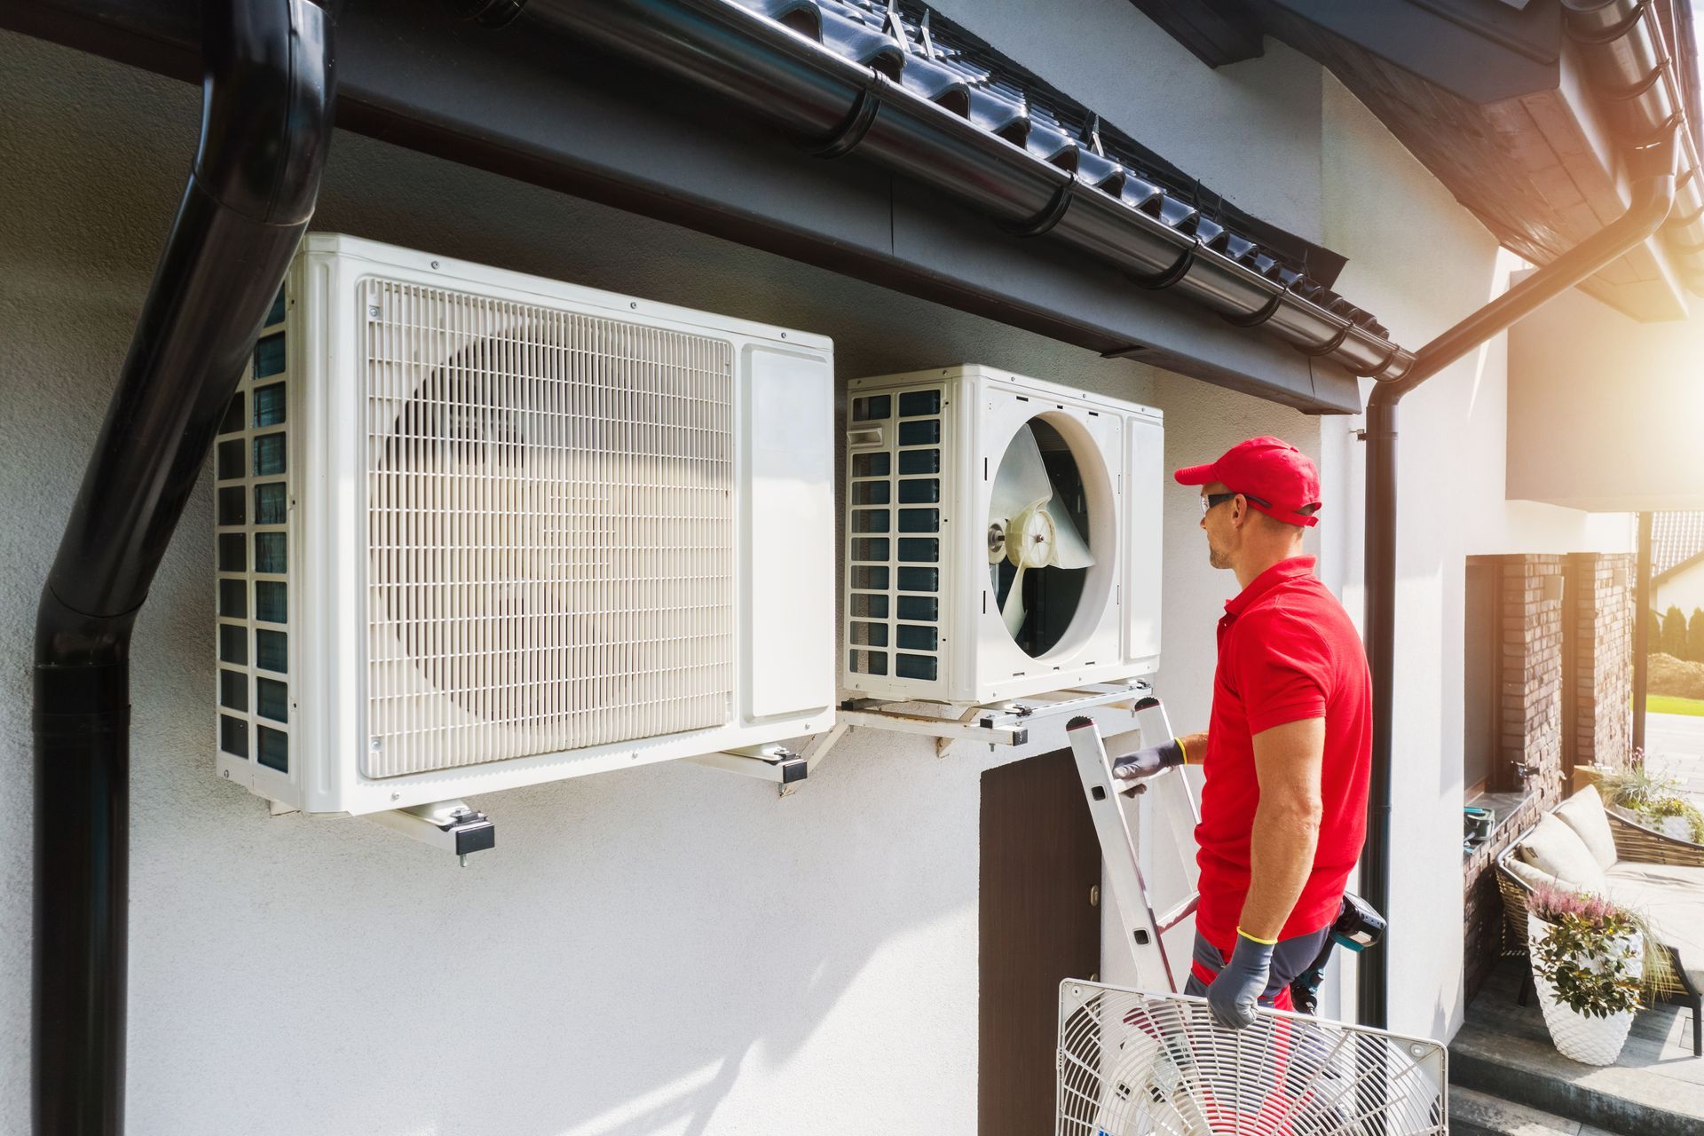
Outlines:
[[[1634,152],[1632,203],[1600,232],[1556,257],[1506,293],[1414,353],[1414,366],[1373,387],[1367,404],[1367,661],[1373,674],[1373,753],[1367,799],[1361,892],[1379,911],[1390,903],[1390,751],[1396,685],[1396,436],[1402,395],[1508,329],[1547,300],[1598,273],[1648,240],[1675,201],[1677,140],[1668,135]],[[1397,932],[1401,933],[1401,932]],[[1389,949],[1360,959],[1356,991],[1361,1025],[1387,1025]]]

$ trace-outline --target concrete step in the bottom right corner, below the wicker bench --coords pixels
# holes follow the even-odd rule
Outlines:
[[[1459,1088],[1564,1117],[1586,1133],[1595,1126],[1622,1136],[1699,1136],[1704,1117],[1704,1085],[1580,1064],[1547,1041],[1472,1022],[1450,1042],[1450,1095]]]

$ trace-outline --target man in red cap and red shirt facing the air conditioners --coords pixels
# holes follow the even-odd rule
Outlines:
[[[1343,605],[1302,555],[1319,470],[1278,438],[1249,438],[1201,487],[1208,562],[1242,591],[1218,620],[1208,729],[1113,763],[1125,780],[1200,763],[1201,901],[1184,993],[1241,1029],[1254,1007],[1290,1008],[1290,981],[1319,955],[1367,829],[1372,680]]]

